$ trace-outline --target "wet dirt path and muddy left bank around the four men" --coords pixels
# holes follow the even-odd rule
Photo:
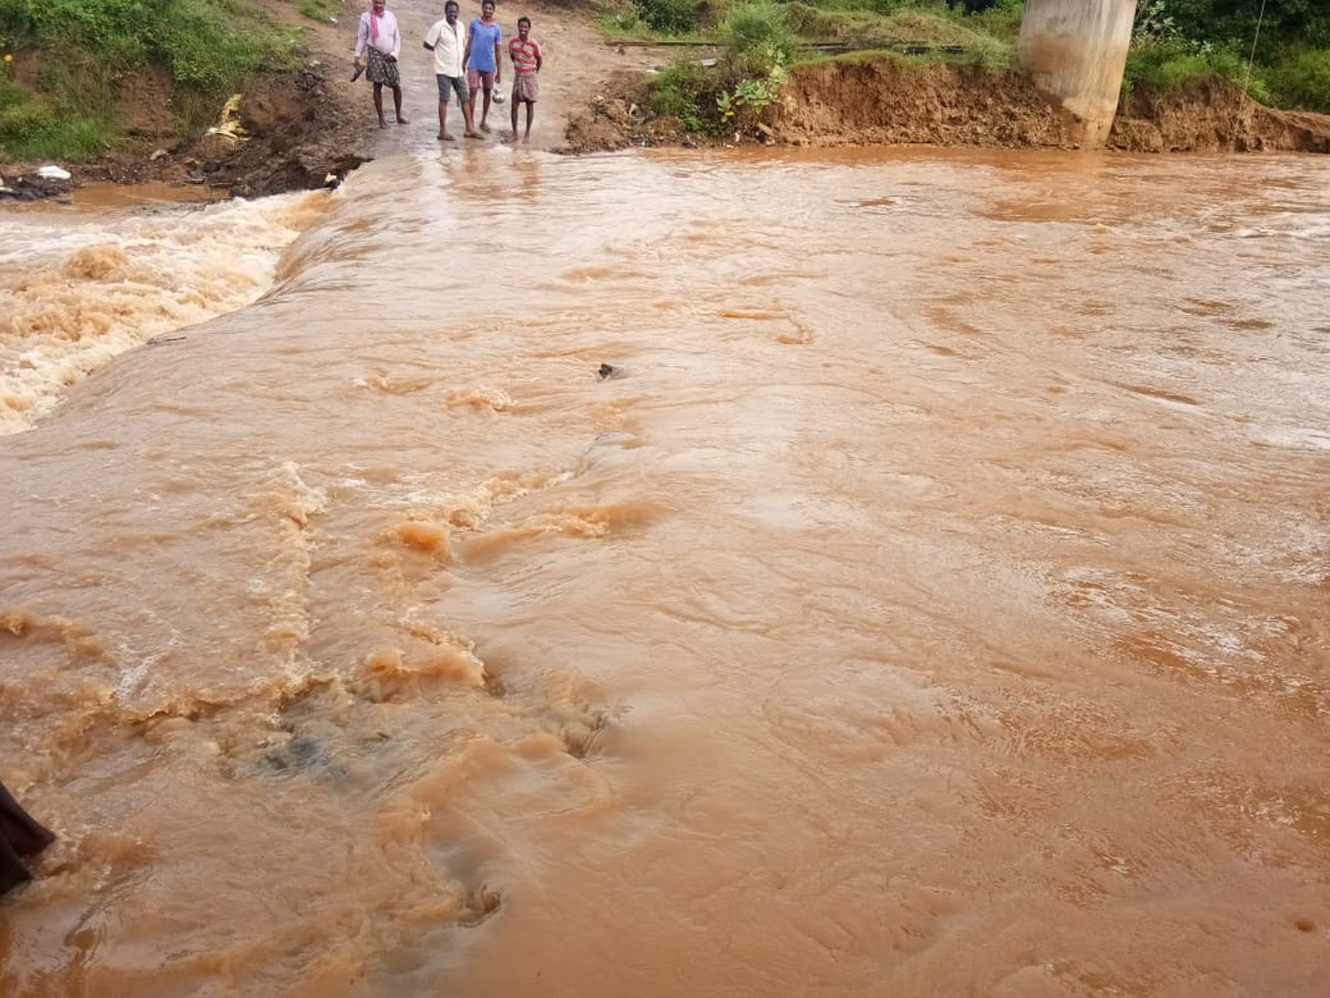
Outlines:
[[[481,141],[460,141],[462,122],[456,105],[450,110],[450,129],[458,142],[443,144],[438,133],[438,86],[434,57],[422,47],[430,25],[442,16],[440,0],[390,0],[402,29],[402,77],[404,112],[411,124],[375,128],[371,88],[362,77],[351,83],[351,53],[360,12],[367,0],[343,4],[335,20],[313,21],[287,0],[261,0],[274,21],[306,32],[305,65],[253,84],[239,105],[245,138],[173,134],[169,84],[157,80],[162,92],[140,114],[130,141],[102,160],[68,164],[77,182],[112,181],[144,185],[209,185],[231,194],[258,197],[283,190],[319,186],[329,173],[344,173],[359,164],[388,156],[496,146],[509,132],[509,105],[491,109],[493,133]],[[480,5],[466,0],[466,21]],[[595,102],[602,80],[614,71],[636,77],[652,65],[668,61],[649,49],[616,51],[606,45],[583,9],[543,3],[507,3],[499,12],[504,39],[511,37],[517,17],[532,19],[533,37],[544,51],[541,100],[536,108],[529,148],[563,149],[571,114]],[[148,76],[152,76],[149,73]],[[146,79],[146,77],[145,77]],[[156,80],[156,77],[153,77]],[[503,90],[511,88],[511,65],[504,67]],[[386,94],[391,110],[391,94]],[[222,101],[218,98],[218,116]],[[454,126],[455,125],[455,126]],[[137,137],[136,137],[137,136]],[[41,164],[8,164],[4,176],[13,181]],[[59,192],[55,192],[59,193]]]

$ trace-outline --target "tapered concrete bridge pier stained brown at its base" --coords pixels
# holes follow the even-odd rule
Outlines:
[[[1083,148],[1113,126],[1134,20],[1136,0],[1025,0],[1021,64],[1076,120]]]

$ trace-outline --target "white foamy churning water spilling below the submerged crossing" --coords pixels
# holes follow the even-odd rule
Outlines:
[[[32,427],[117,354],[255,301],[327,201],[0,214],[0,434]]]

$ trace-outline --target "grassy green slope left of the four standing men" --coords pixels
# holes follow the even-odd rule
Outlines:
[[[254,73],[298,65],[298,41],[242,0],[0,0],[0,160],[104,152],[120,88],[148,65],[202,128]]]

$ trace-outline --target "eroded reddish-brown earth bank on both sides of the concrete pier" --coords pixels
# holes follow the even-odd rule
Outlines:
[[[1064,110],[1015,69],[886,56],[797,67],[782,100],[759,121],[720,138],[682,129],[650,110],[649,81],[618,73],[572,116],[575,150],[629,145],[777,142],[786,145],[971,145],[1065,148],[1075,144]],[[1281,112],[1244,98],[1226,81],[1204,81],[1168,94],[1137,92],[1124,106],[1109,145],[1133,152],[1330,152],[1330,116]]]

